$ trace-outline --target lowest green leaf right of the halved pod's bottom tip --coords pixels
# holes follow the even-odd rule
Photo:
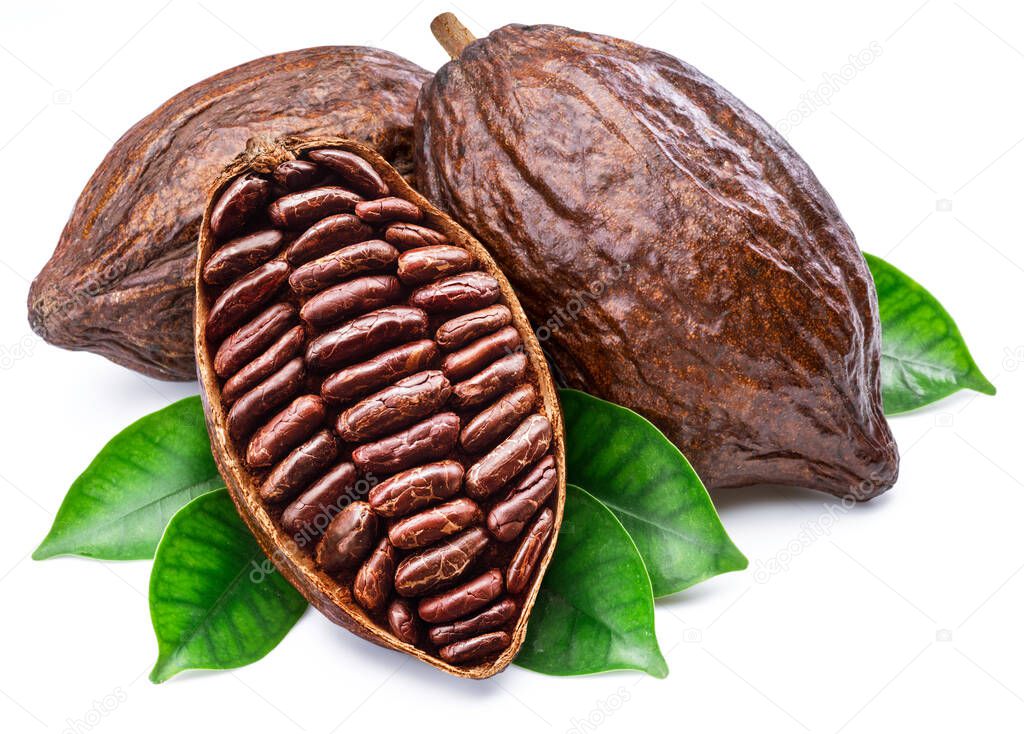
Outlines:
[[[669,675],[643,559],[615,516],[571,484],[558,547],[515,661],[550,676],[624,668]]]

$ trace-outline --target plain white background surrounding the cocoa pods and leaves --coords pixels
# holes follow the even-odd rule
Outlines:
[[[637,39],[770,122],[829,87],[788,139],[862,247],[942,300],[999,394],[894,420],[900,481],[865,506],[796,490],[717,495],[751,568],[658,602],[667,680],[513,667],[460,681],[310,611],[254,665],[154,686],[150,564],[29,554],[106,439],[196,386],[42,343],[26,322],[30,279],[103,154],[165,98],[321,44],[377,45],[435,69],[445,56],[427,25],[449,9],[478,35],[520,21]],[[4,3],[0,730],[1020,731],[1022,16],[1016,3],[972,0]],[[827,81],[872,44],[853,78]]]

